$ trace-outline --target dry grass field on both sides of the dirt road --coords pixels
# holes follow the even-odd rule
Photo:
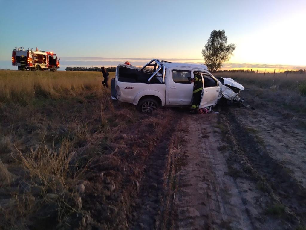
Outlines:
[[[305,75],[220,75],[256,85],[262,100],[306,107]],[[0,229],[127,223],[144,165],[176,114],[112,102],[102,80],[101,72],[0,71]]]

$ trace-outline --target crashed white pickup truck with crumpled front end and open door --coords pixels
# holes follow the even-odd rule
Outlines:
[[[152,59],[142,68],[119,64],[111,81],[112,99],[137,106],[142,113],[158,107],[191,105],[195,74],[202,76],[199,108],[215,106],[220,98],[239,101],[244,87],[230,78],[215,78],[205,65]]]

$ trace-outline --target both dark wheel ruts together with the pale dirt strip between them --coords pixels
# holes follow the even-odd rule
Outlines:
[[[184,115],[174,133],[170,125],[148,159],[130,229],[295,229],[305,224],[304,187],[231,109],[225,115]],[[185,140],[179,172],[169,151],[178,132]],[[285,210],[271,216],[267,210],[275,202]]]

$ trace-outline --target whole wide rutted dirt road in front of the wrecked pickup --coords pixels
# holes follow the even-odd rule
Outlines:
[[[278,109],[183,115],[182,157],[155,149],[131,229],[304,229],[306,132]]]

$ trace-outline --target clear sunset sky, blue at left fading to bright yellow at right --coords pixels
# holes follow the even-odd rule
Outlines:
[[[14,47],[53,51],[67,66],[204,63],[201,50],[224,29],[236,50],[223,69],[306,67],[306,1],[0,0],[0,69]]]

